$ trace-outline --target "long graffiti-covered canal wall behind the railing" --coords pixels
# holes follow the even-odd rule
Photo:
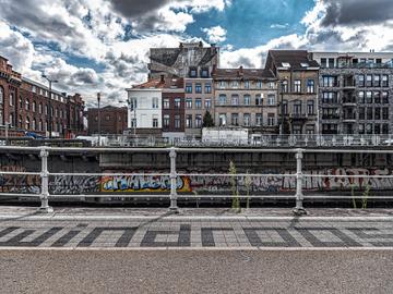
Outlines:
[[[1,171],[25,172],[26,169],[17,166],[2,166]],[[108,171],[106,171],[108,172]],[[134,171],[140,172],[140,171]],[[147,171],[145,171],[147,172]],[[153,171],[148,171],[154,173]],[[270,171],[274,173],[275,171]],[[284,171],[282,173],[294,173]],[[350,191],[352,188],[364,189],[393,189],[393,179],[378,177],[378,175],[392,175],[390,169],[327,169],[320,171],[303,171],[305,191]],[[325,174],[329,174],[326,176]],[[340,177],[338,177],[340,175]],[[377,175],[374,179],[352,177],[354,175]],[[76,195],[94,193],[169,193],[170,179],[168,175],[156,176],[69,176],[57,175],[49,177],[49,189],[55,195]],[[250,176],[249,184],[245,177],[238,177],[237,186],[245,192],[248,187],[250,193],[279,193],[296,189],[296,179],[288,176]],[[179,176],[177,191],[179,193],[228,193],[230,191],[230,177],[228,176]],[[0,192],[3,193],[33,193],[40,192],[39,175],[0,175]]]

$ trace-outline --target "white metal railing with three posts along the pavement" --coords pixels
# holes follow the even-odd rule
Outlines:
[[[74,148],[74,147],[15,147],[15,146],[0,146],[0,151],[28,151],[28,152],[38,152],[41,161],[41,169],[40,172],[21,172],[21,171],[0,171],[0,175],[9,174],[9,175],[37,175],[40,177],[40,191],[37,194],[23,194],[23,197],[39,197],[40,199],[40,210],[45,212],[51,212],[52,208],[49,206],[50,199],[56,199],[57,197],[70,197],[70,198],[85,198],[85,197],[145,197],[145,198],[153,198],[153,197],[168,197],[170,200],[169,209],[171,211],[178,210],[178,198],[187,197],[189,195],[178,195],[177,188],[177,180],[179,176],[226,176],[230,179],[238,179],[238,177],[246,177],[246,176],[281,176],[281,177],[294,177],[296,179],[296,193],[289,198],[296,200],[296,207],[294,208],[294,212],[296,215],[306,213],[303,208],[303,179],[305,177],[320,177],[320,176],[332,176],[332,177],[352,177],[352,179],[393,179],[393,174],[385,174],[385,175],[331,175],[331,174],[305,174],[302,172],[302,160],[305,154],[319,154],[319,152],[334,152],[334,154],[393,154],[393,150],[376,150],[376,149],[367,149],[367,150],[359,150],[359,149],[255,149],[255,148],[225,148],[225,149],[217,149],[217,148]],[[170,159],[170,170],[169,173],[52,173],[48,170],[48,157],[50,152],[75,152],[81,151],[84,152],[160,152],[167,154]],[[176,158],[177,154],[179,152],[286,152],[286,154],[294,154],[296,159],[296,173],[291,174],[248,174],[248,173],[218,173],[218,174],[189,174],[189,173],[178,173],[176,170]],[[94,195],[56,195],[49,193],[49,176],[50,175],[82,175],[82,176],[122,176],[122,175],[141,175],[141,176],[150,176],[150,175],[167,175],[170,179],[170,192],[168,195],[114,195],[114,194],[94,194]],[[16,193],[0,193],[0,196],[22,196]],[[234,195],[199,195],[200,198],[229,198],[234,197]],[[236,195],[238,198],[288,198],[285,195]],[[358,199],[364,198],[362,196],[319,196],[319,195],[307,195],[307,198],[349,198],[349,199]],[[381,198],[385,200],[393,199],[393,196],[376,196],[373,198]]]

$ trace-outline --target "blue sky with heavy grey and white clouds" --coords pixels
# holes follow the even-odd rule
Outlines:
[[[25,77],[124,106],[148,49],[203,41],[221,68],[262,68],[270,49],[393,51],[392,0],[0,0],[0,56]]]

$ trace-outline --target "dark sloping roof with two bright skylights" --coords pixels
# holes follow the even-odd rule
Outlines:
[[[307,50],[270,50],[269,56],[276,68],[290,68],[293,70],[320,68],[319,63],[310,58]]]

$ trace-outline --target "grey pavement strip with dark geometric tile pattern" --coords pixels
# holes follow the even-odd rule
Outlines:
[[[0,247],[392,247],[392,220],[9,220]]]

